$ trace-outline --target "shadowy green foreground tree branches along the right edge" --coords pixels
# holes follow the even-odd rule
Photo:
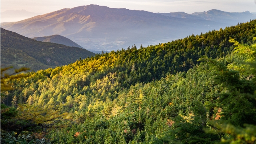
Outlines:
[[[254,144],[256,142],[256,44],[251,46],[239,44],[234,39],[230,39],[230,42],[234,42],[237,46],[234,54],[243,56],[243,61],[225,66],[216,60],[204,58],[213,65],[215,81],[218,84],[225,84],[229,90],[218,100],[222,108],[220,113],[222,121],[212,122],[217,129],[214,133],[225,133],[221,143]],[[245,78],[244,74],[249,78]],[[213,132],[209,129],[206,131]]]

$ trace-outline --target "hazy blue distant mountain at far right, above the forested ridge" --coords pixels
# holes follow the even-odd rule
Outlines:
[[[235,25],[238,22],[248,22],[256,19],[256,14],[252,14],[249,11],[246,12],[224,12],[221,10],[208,10],[207,12],[194,12],[192,16],[204,18],[214,22],[221,22],[226,24]]]

